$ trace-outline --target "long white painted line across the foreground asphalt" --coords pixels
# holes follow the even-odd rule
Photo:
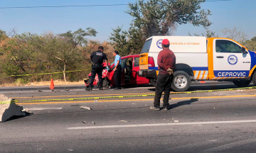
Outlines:
[[[173,126],[173,125],[208,125],[208,124],[231,124],[231,123],[256,123],[256,120],[231,120],[231,121],[195,122],[195,123],[159,123],[159,124],[140,124],[140,125],[106,125],[106,126],[74,127],[74,128],[67,128],[67,129],[82,130],[82,129],[102,129],[102,128],[139,128],[139,127]]]

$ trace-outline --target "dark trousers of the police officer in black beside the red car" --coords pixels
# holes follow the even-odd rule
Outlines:
[[[95,79],[95,75],[98,75],[99,78],[99,84],[100,88],[102,88],[102,71],[103,67],[100,64],[92,64],[92,72],[91,72],[91,77],[90,77],[90,87],[92,87],[93,81]]]

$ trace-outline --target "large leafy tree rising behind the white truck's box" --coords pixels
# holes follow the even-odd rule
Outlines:
[[[119,51],[127,55],[142,50],[144,41],[152,35],[173,35],[178,25],[191,23],[193,26],[208,28],[212,24],[208,21],[210,11],[201,9],[205,1],[138,0],[135,4],[129,4],[129,10],[126,11],[134,18],[129,30],[122,31],[119,27],[113,29],[110,41],[115,49],[124,49]],[[122,48],[122,45],[125,46]]]

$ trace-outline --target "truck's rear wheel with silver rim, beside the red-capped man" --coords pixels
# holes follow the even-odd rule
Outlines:
[[[191,85],[191,78],[186,72],[174,72],[174,81],[171,84],[171,89],[176,92],[186,91]]]

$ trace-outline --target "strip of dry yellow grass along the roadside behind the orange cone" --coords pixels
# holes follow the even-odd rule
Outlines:
[[[82,81],[62,81],[62,80],[53,80],[54,86],[58,85],[82,85],[85,84],[85,82]],[[17,83],[12,83],[12,84],[1,84],[0,86],[50,86],[50,81],[40,81],[40,82],[30,82],[28,84],[17,84]]]

